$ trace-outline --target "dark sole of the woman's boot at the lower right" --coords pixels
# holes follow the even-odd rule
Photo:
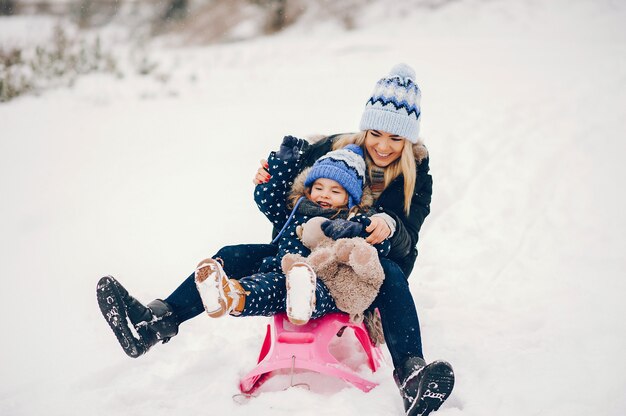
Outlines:
[[[413,402],[407,416],[427,416],[437,411],[454,388],[454,371],[447,362],[434,361],[422,371],[424,374],[417,393],[419,400]]]

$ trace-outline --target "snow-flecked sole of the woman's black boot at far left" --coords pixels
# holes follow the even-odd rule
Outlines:
[[[113,330],[126,355],[137,358],[145,353],[141,340],[135,337],[130,329],[126,305],[117,289],[117,281],[111,276],[101,278],[96,287],[96,296],[102,316]]]

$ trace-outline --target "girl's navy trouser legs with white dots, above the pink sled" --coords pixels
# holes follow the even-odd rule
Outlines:
[[[257,273],[239,279],[244,290],[250,292],[241,315],[238,316],[273,316],[286,311],[287,289],[285,275],[278,272]],[[319,318],[331,312],[340,312],[328,288],[321,280],[315,287],[316,304],[312,318]]]

